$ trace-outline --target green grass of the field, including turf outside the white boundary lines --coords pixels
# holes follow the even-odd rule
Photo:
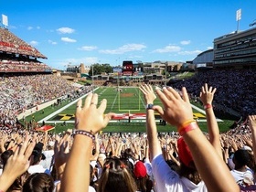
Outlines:
[[[120,87],[122,91],[117,91],[117,88],[107,88],[101,87],[97,89],[95,92],[99,95],[99,102],[102,99],[107,99],[107,112],[115,112],[115,113],[144,113],[144,98],[143,94],[137,87]],[[83,99],[84,101],[84,99]],[[155,104],[161,105],[161,101],[159,99],[155,100]],[[64,110],[61,110],[63,107],[70,105]],[[198,107],[198,105],[197,105]],[[202,109],[199,109],[195,106],[193,108],[194,117],[199,118],[199,127],[202,131],[207,132],[207,123],[205,122],[205,114]],[[200,106],[199,106],[200,107]],[[196,109],[197,108],[197,109]],[[58,112],[59,110],[59,112]],[[48,107],[44,109],[44,113],[39,111],[34,113],[35,119],[37,122],[44,121],[46,123],[55,125],[56,129],[53,132],[59,133],[63,132],[68,128],[74,127],[74,113],[76,111],[76,102],[71,103],[70,101],[64,101],[59,107],[52,108]],[[51,117],[48,117],[51,115]],[[32,117],[28,116],[26,118],[29,121]],[[66,126],[63,123],[66,122]],[[158,120],[159,122],[159,120]],[[225,132],[229,129],[229,126],[233,123],[230,120],[219,120],[219,130],[220,132]],[[167,133],[176,131],[175,127],[171,125],[160,125],[157,123],[158,132]],[[145,123],[141,121],[136,121],[135,123],[123,123],[123,121],[112,122],[109,123],[107,128],[103,130],[104,132],[125,132],[125,133],[144,133]]]

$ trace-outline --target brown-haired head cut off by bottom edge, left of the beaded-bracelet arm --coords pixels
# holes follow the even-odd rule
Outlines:
[[[51,176],[45,173],[36,173],[28,176],[27,181],[23,185],[23,192],[52,192],[54,189],[54,181]]]

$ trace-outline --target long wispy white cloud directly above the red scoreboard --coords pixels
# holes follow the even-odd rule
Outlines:
[[[132,52],[132,51],[138,51],[138,50],[143,50],[144,48],[146,48],[146,46],[144,46],[143,44],[126,44],[123,45],[120,48],[117,49],[104,49],[104,50],[100,50],[101,53],[105,53],[105,54],[123,54],[126,52]]]

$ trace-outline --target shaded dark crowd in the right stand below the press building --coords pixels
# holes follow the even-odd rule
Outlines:
[[[187,87],[187,92],[198,97],[198,89],[205,83],[217,88],[215,106],[225,111],[233,109],[244,118],[256,112],[255,69],[214,69],[197,72],[197,75],[172,85]],[[216,109],[217,110],[217,109]]]

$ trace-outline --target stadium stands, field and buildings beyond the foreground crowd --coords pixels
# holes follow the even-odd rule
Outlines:
[[[18,122],[19,126],[37,129],[42,123],[47,123],[55,127],[55,132],[62,132],[73,126],[75,102],[80,97],[84,98],[86,93],[95,91],[108,99],[107,112],[118,114],[110,123],[110,127],[114,127],[110,128],[110,132],[119,132],[118,126],[123,127],[122,132],[134,132],[133,126],[137,127],[135,130],[138,132],[145,132],[144,101],[138,89],[144,83],[160,87],[169,85],[177,90],[187,87],[191,100],[195,101],[194,116],[205,131],[205,114],[197,98],[203,83],[207,82],[218,89],[214,106],[219,123],[223,123],[221,131],[228,131],[229,127],[234,126],[234,121],[244,123],[249,114],[255,113],[256,28],[217,37],[214,39],[214,49],[199,54],[187,65],[169,61],[134,64],[123,61],[122,69],[114,67],[108,74],[93,74],[92,71],[91,76],[91,71],[86,71],[83,64],[76,66],[75,70],[69,66],[70,72],[61,74],[61,71],[38,61],[47,57],[36,48],[4,27],[0,28],[0,32],[1,86],[3,91],[9,90],[2,91],[1,122],[5,126],[14,126]],[[187,73],[191,71],[193,76],[187,78]],[[80,78],[64,78],[67,74]],[[84,80],[82,77],[91,78],[91,85],[83,86],[75,82]],[[25,83],[32,80],[31,85]],[[49,84],[52,87],[48,87]],[[27,94],[29,86],[38,87]],[[41,91],[40,96],[37,90]],[[48,95],[42,95],[42,92],[48,92]],[[18,101],[12,103],[16,98]],[[160,101],[156,102],[161,104]],[[160,116],[155,114],[155,117],[157,123],[162,125]],[[160,127],[163,132],[170,129]]]

